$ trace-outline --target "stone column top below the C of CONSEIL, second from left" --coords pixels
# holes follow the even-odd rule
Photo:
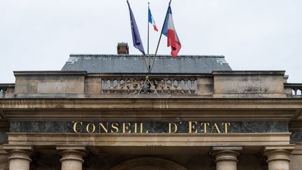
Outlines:
[[[62,159],[62,170],[82,170],[82,157],[86,150],[84,146],[57,146]]]

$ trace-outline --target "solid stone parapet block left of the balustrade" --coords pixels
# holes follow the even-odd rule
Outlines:
[[[15,71],[15,97],[85,97],[85,73]]]

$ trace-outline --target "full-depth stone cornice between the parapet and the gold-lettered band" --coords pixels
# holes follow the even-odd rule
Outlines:
[[[280,120],[302,99],[0,99],[6,120]]]

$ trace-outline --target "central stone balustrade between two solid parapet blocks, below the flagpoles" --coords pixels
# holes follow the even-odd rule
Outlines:
[[[197,94],[196,78],[102,78],[101,94]],[[156,90],[156,92],[155,92]]]

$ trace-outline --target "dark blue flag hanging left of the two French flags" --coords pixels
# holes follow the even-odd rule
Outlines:
[[[138,31],[138,27],[136,25],[136,20],[134,18],[134,14],[132,13],[132,10],[130,8],[130,4],[127,1],[128,6],[129,6],[129,12],[130,12],[130,24],[131,24],[131,31],[132,31],[132,40],[134,42],[134,47],[140,50],[143,55],[145,55],[145,50],[143,48],[143,43],[141,41],[141,36]]]

